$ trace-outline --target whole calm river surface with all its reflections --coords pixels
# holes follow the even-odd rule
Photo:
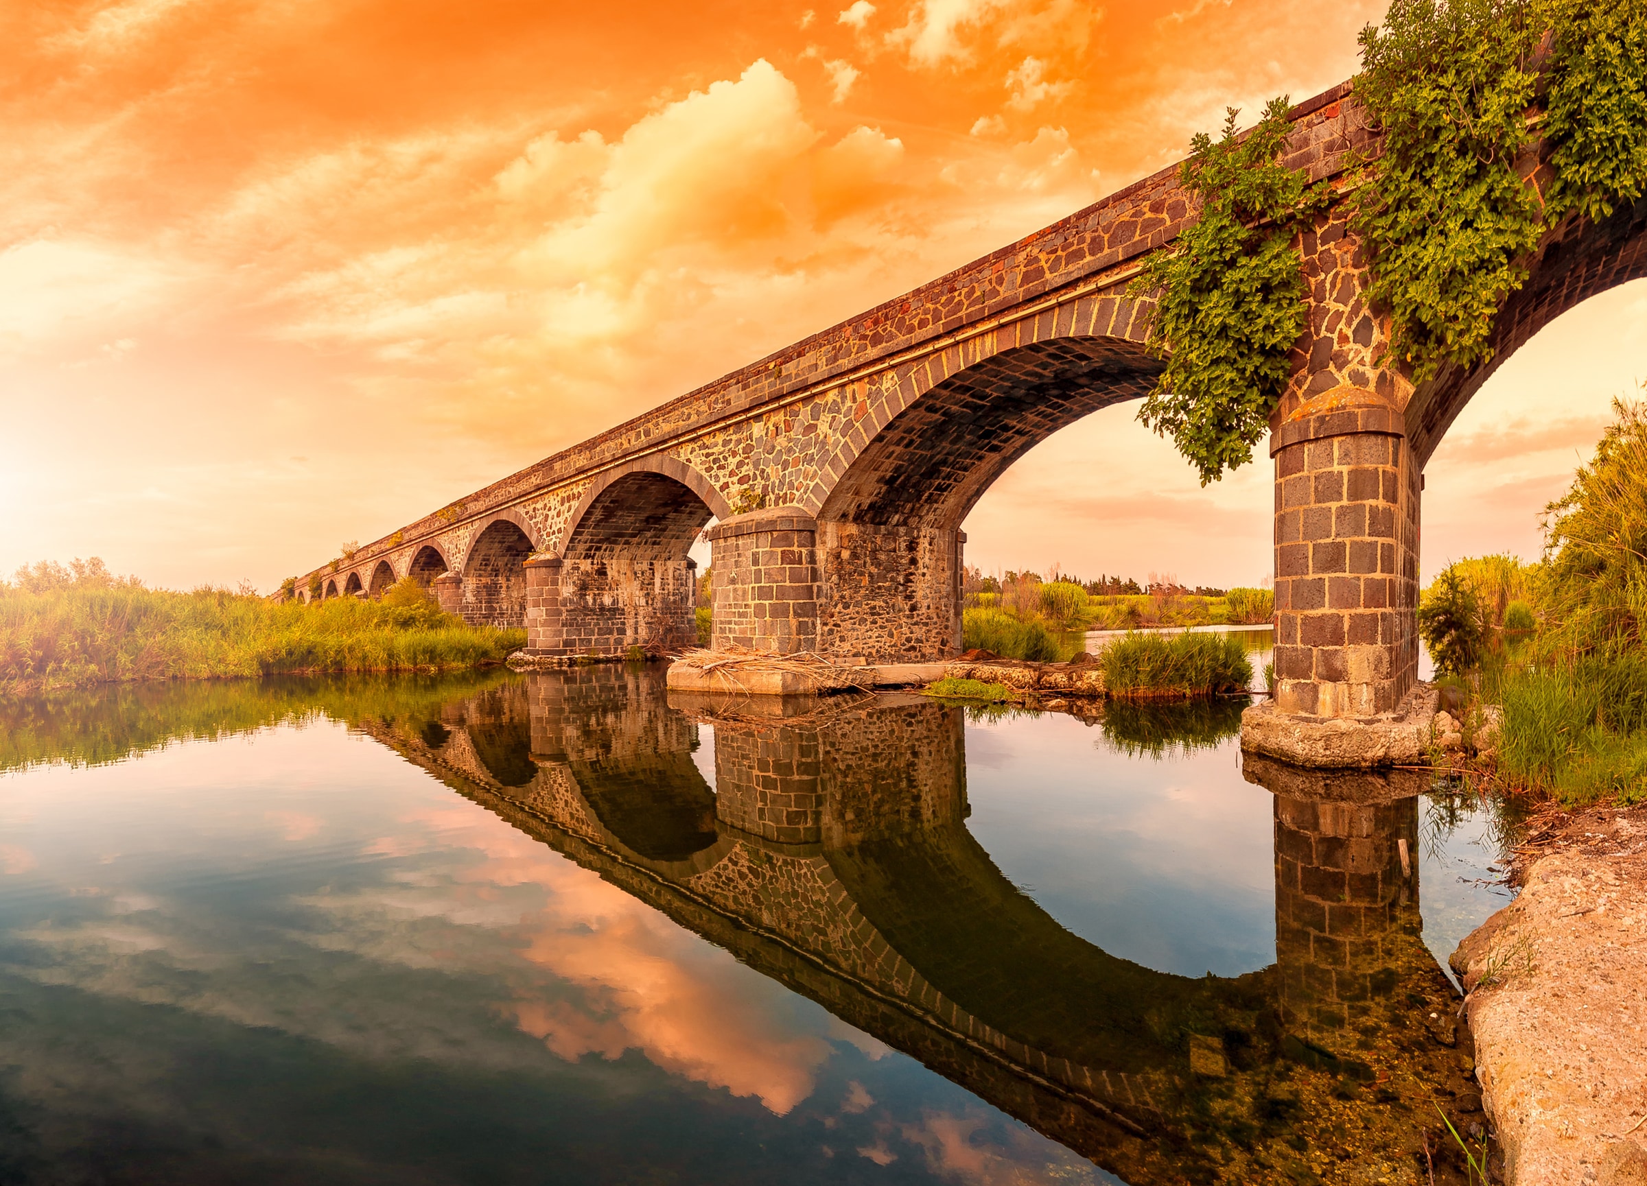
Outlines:
[[[1416,1181],[1504,824],[1239,710],[0,702],[0,1181]]]

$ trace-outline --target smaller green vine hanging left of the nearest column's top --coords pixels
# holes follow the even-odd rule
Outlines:
[[[1138,418],[1173,438],[1202,486],[1252,460],[1304,328],[1293,236],[1329,191],[1276,160],[1286,112],[1286,97],[1271,99],[1258,127],[1237,135],[1232,107],[1219,140],[1194,138],[1179,183],[1201,199],[1201,217],[1130,288],[1156,296],[1148,346],[1166,361]]]

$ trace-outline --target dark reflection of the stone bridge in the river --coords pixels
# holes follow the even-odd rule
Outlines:
[[[991,863],[965,827],[957,707],[728,707],[588,667],[359,728],[1135,1186],[1323,1161],[1407,1181],[1435,1102],[1463,1127],[1479,1109],[1420,937],[1423,787],[1400,776],[1248,758],[1275,794],[1276,962],[1189,978],[1071,934]]]

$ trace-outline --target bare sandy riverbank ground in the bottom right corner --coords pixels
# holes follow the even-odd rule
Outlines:
[[[1512,1186],[1647,1181],[1647,809],[1551,809],[1453,955]]]

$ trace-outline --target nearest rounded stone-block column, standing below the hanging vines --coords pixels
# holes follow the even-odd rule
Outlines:
[[[1393,402],[1339,387],[1273,425],[1275,707],[1390,713],[1418,677],[1421,474]]]

